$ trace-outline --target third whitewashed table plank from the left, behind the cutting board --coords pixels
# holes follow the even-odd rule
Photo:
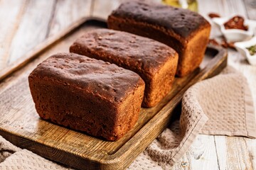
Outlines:
[[[48,35],[54,35],[79,18],[90,16],[91,0],[57,1]]]

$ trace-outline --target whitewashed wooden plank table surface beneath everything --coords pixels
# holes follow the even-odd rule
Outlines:
[[[0,69],[57,34],[82,16],[107,15],[121,0],[0,0]],[[159,1],[159,0],[156,0]],[[198,0],[198,11],[221,16],[240,14],[256,20],[256,0]],[[211,36],[218,35],[213,28]],[[256,105],[256,67],[229,50],[228,63],[247,77]],[[198,135],[172,169],[256,169],[256,140],[246,137]]]

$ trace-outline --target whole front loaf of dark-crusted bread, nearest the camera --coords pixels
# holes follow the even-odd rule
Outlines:
[[[41,118],[110,141],[137,123],[145,86],[132,71],[73,53],[49,57],[28,81]]]

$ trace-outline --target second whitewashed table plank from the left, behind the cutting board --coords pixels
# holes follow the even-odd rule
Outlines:
[[[55,1],[29,1],[26,11],[18,25],[18,30],[11,42],[8,64],[14,62],[33,47],[46,39]]]

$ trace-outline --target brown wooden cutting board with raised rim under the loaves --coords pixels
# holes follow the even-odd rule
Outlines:
[[[142,108],[138,123],[117,142],[41,120],[28,88],[28,74],[50,55],[68,52],[73,41],[87,30],[105,27],[103,21],[82,18],[0,72],[0,135],[18,147],[77,169],[125,169],[166,128],[186,89],[218,74],[227,64],[225,50],[208,46],[201,67],[187,77],[176,78],[159,105]]]

